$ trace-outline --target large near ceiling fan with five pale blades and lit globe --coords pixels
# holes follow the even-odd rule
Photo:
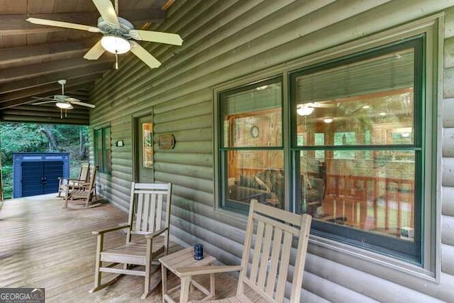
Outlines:
[[[118,17],[118,0],[115,1],[115,8],[110,0],[92,1],[101,14],[101,17],[98,19],[97,27],[40,18],[27,18],[26,20],[44,26],[58,26],[62,28],[89,31],[92,33],[102,33],[103,36],[101,40],[84,55],[84,58],[87,60],[96,60],[101,57],[105,50],[107,50],[109,53],[113,53],[116,56],[116,69],[118,69],[118,55],[127,53],[129,50],[151,68],[156,68],[161,65],[153,55],[148,53],[148,51],[135,42],[135,40],[172,45],[182,45],[183,43],[182,38],[175,33],[136,30],[131,22]]]

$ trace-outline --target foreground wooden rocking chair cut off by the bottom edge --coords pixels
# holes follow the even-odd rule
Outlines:
[[[255,244],[253,244],[255,224],[257,224],[257,232],[255,233]],[[266,302],[283,302],[294,236],[297,237],[298,250],[294,265],[290,302],[299,302],[310,227],[311,216],[307,214],[301,216],[252,202],[242,264],[240,266],[177,268],[177,272],[182,276],[182,292],[179,302],[187,302],[192,276],[238,270],[240,276],[236,297],[209,302],[255,302],[254,299],[257,299],[257,296],[251,299],[249,293],[246,295],[245,285],[253,290],[253,294],[258,294]],[[250,254],[253,254],[253,258],[248,274]]]

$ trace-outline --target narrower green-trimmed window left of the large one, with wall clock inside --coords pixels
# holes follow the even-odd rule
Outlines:
[[[222,206],[247,211],[252,199],[284,207],[282,77],[218,96]]]

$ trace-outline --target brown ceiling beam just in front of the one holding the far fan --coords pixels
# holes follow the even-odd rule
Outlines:
[[[60,61],[25,65],[21,67],[9,67],[4,70],[0,70],[0,86],[1,84],[4,84],[6,82],[40,77],[43,75],[54,74],[55,72],[75,70],[82,67],[89,67],[90,65],[98,64],[101,62],[111,61],[110,58],[109,60],[85,60],[83,57],[77,57]]]

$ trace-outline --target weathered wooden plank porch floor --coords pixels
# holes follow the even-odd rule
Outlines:
[[[90,294],[96,250],[91,232],[124,223],[127,214],[111,204],[79,210],[61,206],[62,200],[55,194],[4,202],[0,210],[0,287],[45,287],[46,302],[162,302],[160,284],[141,300],[143,277],[131,275]],[[106,235],[105,243],[109,247],[124,241],[125,236],[114,231]],[[174,245],[171,250],[180,248]],[[159,267],[153,276],[160,282]],[[170,288],[179,283],[172,274],[168,279]],[[232,275],[216,275],[216,297],[234,294],[236,282]],[[175,293],[175,299],[178,295]],[[199,299],[201,294],[194,295]]]

